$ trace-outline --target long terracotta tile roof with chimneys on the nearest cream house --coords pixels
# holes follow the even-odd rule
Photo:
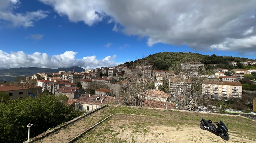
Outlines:
[[[99,97],[99,98],[97,98]],[[97,98],[97,100],[96,100]],[[102,100],[102,103],[101,103]],[[82,104],[93,104],[93,105],[123,105],[123,100],[120,97],[112,97],[112,96],[98,96],[98,95],[85,95],[83,94],[82,97],[79,97],[75,103],[82,103]]]

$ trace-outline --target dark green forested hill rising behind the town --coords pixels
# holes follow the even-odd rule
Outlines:
[[[243,61],[254,61],[253,59],[232,57],[232,56],[218,56],[218,55],[202,55],[198,53],[183,53],[183,52],[162,52],[149,55],[147,58],[153,63],[153,66],[157,70],[164,70],[171,67],[177,61],[180,61],[184,57],[197,57],[201,59],[204,64],[223,64],[228,65],[230,61],[243,62]],[[139,59],[141,60],[141,59]],[[135,62],[135,61],[134,61]],[[129,66],[133,63],[126,62]]]

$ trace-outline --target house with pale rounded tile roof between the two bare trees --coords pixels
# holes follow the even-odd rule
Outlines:
[[[152,89],[145,94],[147,100],[169,102],[169,95],[163,91]]]

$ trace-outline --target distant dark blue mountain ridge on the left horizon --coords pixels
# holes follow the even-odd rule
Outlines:
[[[0,70],[0,82],[4,81],[14,81],[16,77],[26,77],[26,76],[33,76],[37,73],[56,73],[59,71],[73,71],[75,68],[75,72],[82,72],[85,71],[85,69],[79,67],[79,66],[73,66],[69,68],[58,68],[58,69],[52,69],[52,68],[40,68],[40,67],[20,67],[20,68],[9,68],[9,69],[2,69]]]

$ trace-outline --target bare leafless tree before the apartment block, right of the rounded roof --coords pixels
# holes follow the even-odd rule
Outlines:
[[[213,55],[214,56],[214,55]],[[206,73],[203,66],[182,67],[184,63],[198,63],[200,59],[185,57],[173,65],[174,78],[169,79],[170,94],[176,99],[176,109],[195,110],[197,104],[204,102],[207,98],[202,96],[203,83],[210,82],[201,73]]]

